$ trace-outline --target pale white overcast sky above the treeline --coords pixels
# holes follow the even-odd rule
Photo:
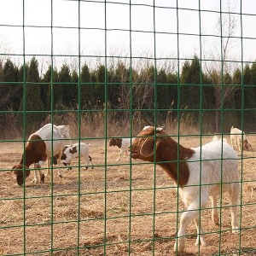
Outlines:
[[[156,57],[158,62],[161,58],[189,59],[194,55],[220,60],[220,8],[224,36],[229,8],[236,20],[227,59],[255,61],[253,0],[1,0],[0,54],[21,63],[22,56],[13,55],[25,53],[27,60],[31,55],[44,55],[39,57],[44,64],[50,63],[48,55],[55,56],[55,63],[63,63],[76,61],[79,53]]]

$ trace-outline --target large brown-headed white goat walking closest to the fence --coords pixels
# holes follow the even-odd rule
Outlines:
[[[169,137],[163,128],[145,127],[131,145],[131,157],[156,162],[177,185],[187,211],[180,218],[180,227],[174,251],[185,249],[185,230],[193,220],[197,229],[196,245],[206,246],[200,223],[200,209],[207,206],[211,197],[212,222],[218,224],[217,197],[228,192],[230,199],[232,232],[239,223],[236,213],[240,186],[236,152],[228,143],[207,143],[199,148],[185,148]]]

